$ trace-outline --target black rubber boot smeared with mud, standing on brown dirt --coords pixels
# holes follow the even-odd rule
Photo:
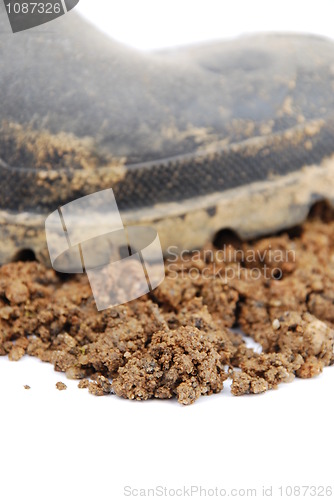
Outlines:
[[[75,11],[13,35],[0,5],[0,261],[24,248],[46,260],[45,217],[110,187],[165,249],[281,229],[334,198],[331,42],[145,54]]]

